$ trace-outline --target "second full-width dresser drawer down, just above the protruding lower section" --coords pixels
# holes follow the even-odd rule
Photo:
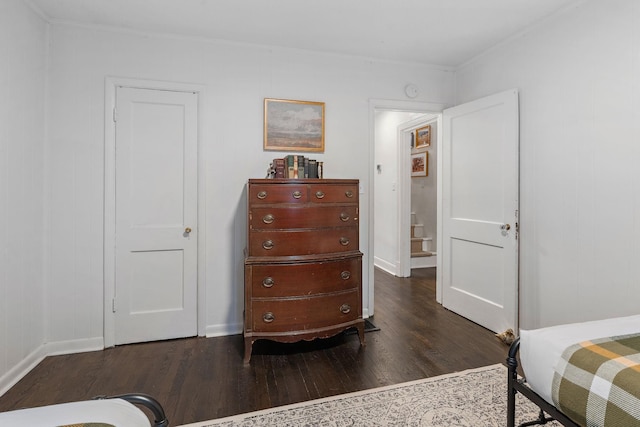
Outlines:
[[[296,256],[358,250],[358,227],[249,231],[249,256]]]

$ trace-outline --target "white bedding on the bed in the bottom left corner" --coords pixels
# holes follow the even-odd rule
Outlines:
[[[151,425],[144,412],[122,399],[87,400],[0,413],[0,427],[53,427],[80,423],[105,423],[118,427]]]

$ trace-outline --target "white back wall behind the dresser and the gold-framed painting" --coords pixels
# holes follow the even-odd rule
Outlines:
[[[325,177],[357,178],[364,301],[369,300],[370,98],[451,102],[448,71],[367,59],[53,25],[51,29],[51,254],[49,339],[103,334],[104,86],[107,76],[204,87],[200,156],[206,178],[206,331],[239,333],[243,310],[244,186],[282,153],[262,150],[265,97],[326,103]],[[365,304],[366,305],[366,304]],[[365,307],[365,311],[367,307]]]

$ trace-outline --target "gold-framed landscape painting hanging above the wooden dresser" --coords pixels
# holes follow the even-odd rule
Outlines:
[[[264,149],[324,152],[324,102],[265,98]]]

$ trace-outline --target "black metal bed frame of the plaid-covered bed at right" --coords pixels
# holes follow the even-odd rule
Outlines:
[[[524,379],[518,378],[518,350],[520,350],[520,338],[511,344],[507,357],[507,368],[509,376],[507,379],[509,396],[507,398],[507,427],[516,427],[516,394],[520,393],[540,408],[537,420],[519,424],[518,427],[543,425],[549,421],[556,420],[566,427],[580,427],[569,417],[560,412],[555,406],[544,400],[538,393],[533,391]],[[549,414],[546,416],[545,414]]]

